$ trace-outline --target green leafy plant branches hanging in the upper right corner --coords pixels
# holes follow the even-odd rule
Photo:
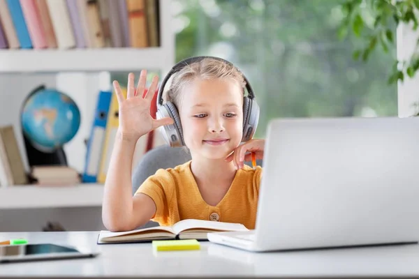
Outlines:
[[[395,27],[398,24],[411,24],[413,30],[418,28],[419,0],[346,0],[340,7],[344,18],[337,32],[339,38],[345,38],[351,30],[364,41],[362,47],[354,51],[353,59],[367,61],[377,42],[385,53],[395,48]],[[388,82],[403,81],[405,75],[413,77],[419,68],[418,56],[418,52],[414,53],[409,61],[393,57],[397,66],[393,67]]]

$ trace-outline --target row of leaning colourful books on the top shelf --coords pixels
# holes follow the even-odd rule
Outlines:
[[[161,0],[0,0],[0,48],[158,47]]]

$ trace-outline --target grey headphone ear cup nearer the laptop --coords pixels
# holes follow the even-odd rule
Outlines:
[[[242,142],[252,139],[259,121],[260,108],[256,100],[248,97],[243,99],[243,137]]]

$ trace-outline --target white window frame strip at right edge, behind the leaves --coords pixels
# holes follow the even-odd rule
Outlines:
[[[418,38],[418,31],[413,31],[411,26],[400,25],[397,28],[397,59],[409,59]],[[419,73],[413,78],[406,76],[404,82],[397,84],[397,96],[399,117],[412,116],[417,112],[414,104],[419,102]]]

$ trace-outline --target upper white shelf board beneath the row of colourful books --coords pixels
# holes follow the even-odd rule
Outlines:
[[[164,69],[172,55],[161,47],[0,50],[0,73]]]

